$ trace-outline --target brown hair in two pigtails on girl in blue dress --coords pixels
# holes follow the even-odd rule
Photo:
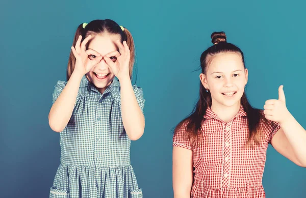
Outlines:
[[[124,31],[121,30],[121,27],[111,19],[105,20],[93,20],[88,23],[85,28],[83,28],[83,23],[78,26],[77,31],[75,32],[72,45],[75,46],[79,36],[82,36],[82,41],[89,35],[98,35],[102,33],[109,34],[119,34],[121,36],[121,42],[126,41],[127,46],[129,46],[131,59],[129,64],[130,77],[132,78],[133,67],[135,62],[135,45],[132,34],[129,30],[124,27]],[[67,67],[67,81],[69,80],[75,65],[75,57],[72,53],[72,50],[69,54],[69,61]]]

